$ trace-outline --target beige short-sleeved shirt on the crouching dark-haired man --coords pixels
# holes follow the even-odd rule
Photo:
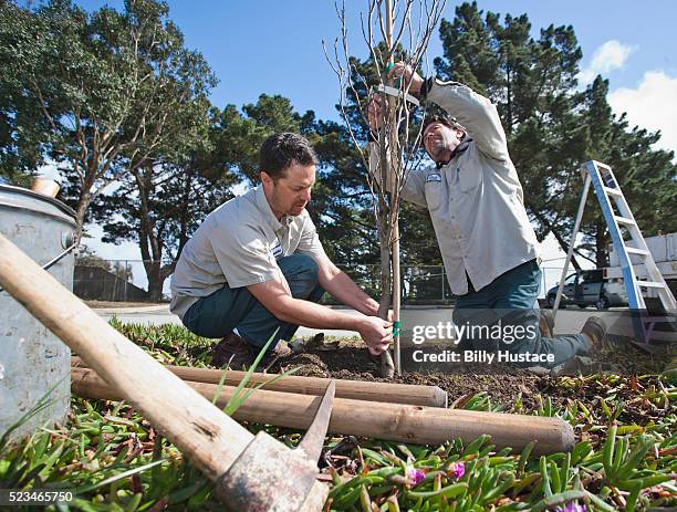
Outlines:
[[[291,254],[324,254],[308,211],[282,221],[259,186],[207,216],[188,241],[171,275],[170,311],[183,317],[200,297],[230,288],[283,279],[277,260]]]

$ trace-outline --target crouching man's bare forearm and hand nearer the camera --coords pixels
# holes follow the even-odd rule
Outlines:
[[[252,284],[247,286],[247,290],[283,322],[312,328],[358,332],[374,355],[385,351],[393,341],[390,322],[376,316],[352,316],[314,302],[294,299],[283,278],[277,276],[263,283]]]

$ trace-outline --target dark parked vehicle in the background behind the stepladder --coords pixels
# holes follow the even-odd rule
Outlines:
[[[548,290],[548,306],[553,307],[558,295],[559,283]],[[627,305],[627,295],[623,280],[606,278],[603,269],[579,270],[564,280],[560,307],[567,305],[587,307],[594,305],[597,310]]]

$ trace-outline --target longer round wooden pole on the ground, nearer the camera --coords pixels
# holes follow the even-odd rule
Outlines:
[[[73,393],[88,398],[119,399],[119,391],[87,368],[71,368]],[[215,384],[187,383],[212,399]],[[235,387],[223,386],[217,405],[225,406]],[[258,389],[238,408],[233,417],[243,421],[306,429],[322,397]],[[558,418],[480,412],[439,407],[408,406],[334,398],[329,430],[336,433],[388,439],[418,445],[441,445],[459,437],[470,442],[483,433],[498,448],[517,451],[537,441],[534,453],[571,451],[574,435],[570,424]]]

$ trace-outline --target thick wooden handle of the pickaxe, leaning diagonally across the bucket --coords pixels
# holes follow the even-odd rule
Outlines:
[[[138,408],[205,474],[221,477],[253,436],[115,331],[0,234],[0,285]]]

